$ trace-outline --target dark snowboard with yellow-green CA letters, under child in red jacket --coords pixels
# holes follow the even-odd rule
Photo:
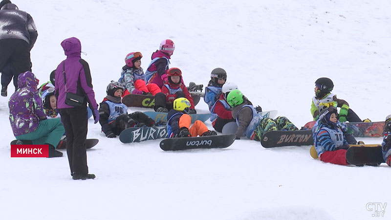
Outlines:
[[[199,102],[199,96],[196,94],[191,94],[194,101],[194,105],[197,105]],[[198,97],[198,101],[197,101]],[[196,102],[197,101],[197,102]],[[153,109],[155,106],[155,96],[153,95],[138,95],[138,94],[129,94],[122,97],[122,103],[128,107],[139,107],[139,108],[149,108]]]

